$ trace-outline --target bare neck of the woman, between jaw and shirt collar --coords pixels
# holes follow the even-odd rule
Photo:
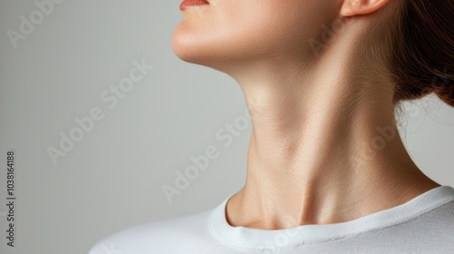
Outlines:
[[[361,60],[360,31],[346,28],[305,64],[295,55],[230,70],[253,126],[246,183],[226,206],[232,226],[355,220],[440,186],[410,159],[396,127],[393,83],[382,63]]]

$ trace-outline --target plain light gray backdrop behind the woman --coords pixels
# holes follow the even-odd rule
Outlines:
[[[117,230],[208,210],[242,187],[251,125],[227,146],[216,136],[244,115],[242,91],[226,74],[173,54],[180,2],[66,0],[16,47],[7,31],[19,32],[20,16],[30,20],[39,8],[1,2],[1,253],[86,253]],[[100,95],[142,59],[153,70],[110,109]],[[46,149],[94,107],[104,119],[54,165]],[[454,109],[429,96],[407,103],[400,121],[419,167],[454,186]],[[221,156],[169,203],[163,185],[210,145]],[[8,149],[16,152],[15,248],[5,239]]]

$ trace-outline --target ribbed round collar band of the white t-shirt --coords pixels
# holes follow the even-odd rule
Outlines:
[[[380,230],[416,218],[454,200],[454,188],[442,185],[399,206],[380,210],[356,220],[322,225],[301,225],[285,230],[233,227],[225,217],[225,206],[234,193],[215,207],[209,218],[212,237],[232,249],[262,251],[291,248],[343,239],[370,230]]]

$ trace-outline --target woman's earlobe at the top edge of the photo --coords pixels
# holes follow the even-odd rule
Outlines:
[[[344,0],[341,6],[342,16],[367,15],[379,10],[390,0]]]

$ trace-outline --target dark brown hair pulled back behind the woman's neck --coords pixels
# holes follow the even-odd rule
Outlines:
[[[402,0],[391,72],[394,102],[429,93],[454,107],[454,0]]]

